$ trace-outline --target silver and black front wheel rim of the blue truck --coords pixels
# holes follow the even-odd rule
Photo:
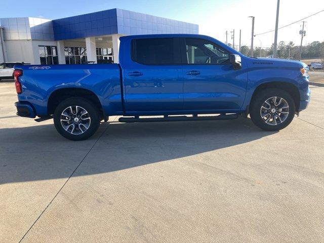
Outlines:
[[[262,120],[272,126],[283,123],[289,115],[288,102],[281,97],[271,97],[264,101],[260,109]]]

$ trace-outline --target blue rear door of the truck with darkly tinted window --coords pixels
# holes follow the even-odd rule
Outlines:
[[[126,112],[181,110],[183,73],[179,38],[139,37],[129,42],[123,67]]]

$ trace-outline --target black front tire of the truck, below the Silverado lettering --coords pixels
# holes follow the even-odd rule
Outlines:
[[[270,99],[272,97],[278,97],[277,99]],[[273,104],[273,106],[270,105],[269,109],[261,109],[261,107],[266,104],[265,101],[268,101],[268,103],[273,103],[273,100],[275,100],[274,102],[277,101],[277,103],[280,101],[279,98],[282,98],[283,100],[281,100],[281,105],[277,104],[277,106],[275,106],[275,104]],[[270,99],[270,102],[269,102]],[[287,105],[282,105],[282,104],[288,104],[289,107],[284,108],[284,109],[280,109],[281,107],[286,107]],[[264,106],[263,106],[264,107]],[[268,107],[266,107],[268,108]],[[273,112],[274,110],[272,110],[272,108],[274,108],[275,112]],[[282,110],[282,113],[280,113],[280,110]],[[295,116],[295,111],[296,111],[296,105],[294,102],[294,99],[292,98],[292,96],[287,93],[285,90],[281,90],[281,89],[264,89],[262,91],[260,91],[258,94],[256,94],[256,96],[254,96],[253,100],[251,101],[250,104],[250,116],[251,119],[253,121],[253,123],[266,131],[279,131],[281,129],[286,128],[293,120],[294,116]],[[289,112],[287,114],[287,112]],[[263,114],[267,114],[264,118],[262,118],[261,115]],[[284,114],[285,113],[285,114]],[[287,114],[287,115],[286,115]],[[279,117],[277,117],[279,116]],[[275,117],[275,119],[270,118],[270,120],[267,120],[268,117]],[[286,117],[286,118],[285,118]],[[282,121],[281,121],[282,120]],[[269,125],[268,123],[273,123],[275,125]]]

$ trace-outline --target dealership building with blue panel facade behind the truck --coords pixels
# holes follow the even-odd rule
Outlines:
[[[198,33],[198,25],[110,9],[62,19],[0,18],[0,63],[118,63],[119,36]]]

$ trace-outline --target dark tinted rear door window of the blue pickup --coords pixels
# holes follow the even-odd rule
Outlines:
[[[179,39],[133,39],[132,60],[146,65],[181,64]]]

